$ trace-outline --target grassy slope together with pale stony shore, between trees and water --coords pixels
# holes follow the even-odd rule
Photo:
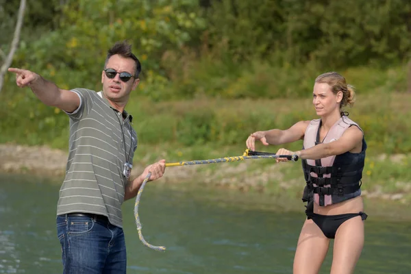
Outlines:
[[[365,197],[405,204],[411,202],[410,96],[395,92],[388,95],[383,90],[376,90],[373,94],[358,95],[354,108],[347,109],[351,119],[364,129],[369,145],[362,179]],[[251,132],[274,127],[284,129],[301,119],[316,118],[310,95],[307,97],[160,103],[134,97],[128,107],[134,114],[134,127],[139,136],[134,164],[145,166],[160,158],[179,162],[242,155],[245,140]],[[24,105],[24,100],[14,103]],[[45,144],[66,151],[68,119],[65,114],[56,111],[49,120],[37,121],[31,118],[34,111],[35,108],[24,105],[18,112],[8,112],[11,119],[2,119],[3,126],[12,123],[13,115],[18,116],[19,123],[3,130],[0,141]],[[49,108],[49,111],[55,110]],[[284,147],[296,150],[301,146],[300,141]],[[258,145],[258,150],[264,151],[275,152],[279,148]],[[301,164],[292,162],[274,164],[273,160],[246,160],[171,169],[179,182],[264,192],[294,200],[301,198],[304,185]],[[178,176],[179,173],[188,175]]]

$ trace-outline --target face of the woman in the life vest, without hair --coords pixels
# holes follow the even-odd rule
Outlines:
[[[341,99],[343,99],[343,92],[339,91],[334,95],[329,84],[315,83],[312,96],[312,104],[314,105],[317,115],[327,116],[336,109],[338,111],[340,110],[340,102]]]

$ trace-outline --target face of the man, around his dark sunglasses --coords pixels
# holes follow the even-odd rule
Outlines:
[[[103,84],[103,93],[110,101],[114,103],[127,103],[129,94],[138,86],[140,79],[135,79],[136,62],[132,58],[123,58],[121,55],[112,55],[105,66],[105,69],[113,69],[116,71],[114,78],[110,79],[105,75],[105,71],[101,74],[101,83]],[[120,73],[129,73],[133,75],[127,82],[120,79]]]

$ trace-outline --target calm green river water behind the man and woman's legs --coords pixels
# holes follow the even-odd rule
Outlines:
[[[0,174],[0,273],[62,273],[55,231],[56,182]],[[150,183],[140,201],[143,246],[134,201],[123,205],[127,273],[292,273],[301,212],[259,208],[258,195]],[[275,207],[273,202],[272,208]],[[411,222],[369,218],[355,273],[411,273]],[[321,269],[329,273],[332,245]]]

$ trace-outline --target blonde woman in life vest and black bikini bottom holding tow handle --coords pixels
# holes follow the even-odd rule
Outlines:
[[[320,119],[299,121],[286,130],[254,132],[246,142],[254,150],[256,140],[263,145],[303,140],[301,151],[277,151],[299,155],[307,182],[303,195],[303,201],[308,201],[307,219],[295,252],[295,274],[319,273],[330,239],[334,239],[331,273],[353,273],[360,258],[366,219],[360,179],[366,142],[362,129],[342,112],[345,105],[353,105],[354,95],[353,87],[338,73],[319,75],[312,103]]]

